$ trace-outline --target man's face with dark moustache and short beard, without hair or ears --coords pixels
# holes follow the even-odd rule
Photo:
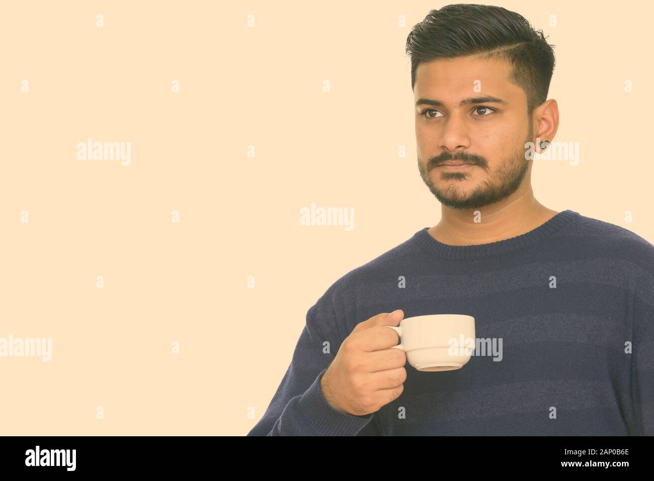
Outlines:
[[[421,63],[416,69],[418,168],[449,208],[496,203],[517,191],[531,172],[525,159],[525,142],[534,140],[526,94],[509,81],[510,71],[504,61],[472,57]],[[466,99],[478,101],[460,105]],[[472,164],[445,167],[445,161]]]

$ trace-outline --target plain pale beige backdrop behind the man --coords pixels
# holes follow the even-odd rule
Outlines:
[[[536,197],[653,241],[650,4],[493,4],[555,44],[555,141],[580,146],[534,165]],[[439,220],[404,46],[442,5],[3,1],[0,337],[53,346],[0,357],[0,433],[245,435],[308,308]],[[78,160],[88,137],[131,165]],[[354,229],[300,225],[311,203]]]

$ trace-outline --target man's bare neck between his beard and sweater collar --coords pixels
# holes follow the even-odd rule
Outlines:
[[[481,212],[481,222],[475,222],[475,210]],[[468,210],[443,206],[441,221],[428,232],[439,242],[452,246],[488,244],[526,234],[558,213],[536,199],[526,204],[514,202],[504,207]]]

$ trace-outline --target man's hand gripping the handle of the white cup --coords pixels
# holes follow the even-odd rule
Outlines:
[[[364,416],[397,399],[404,391],[407,357],[398,333],[385,325],[398,325],[401,309],[382,312],[360,322],[343,340],[334,361],[322,374],[322,395],[334,409]]]

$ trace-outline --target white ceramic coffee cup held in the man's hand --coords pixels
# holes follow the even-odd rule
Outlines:
[[[387,325],[400,336],[392,346],[407,353],[407,361],[418,371],[460,369],[475,349],[475,318],[466,314],[428,314]]]

